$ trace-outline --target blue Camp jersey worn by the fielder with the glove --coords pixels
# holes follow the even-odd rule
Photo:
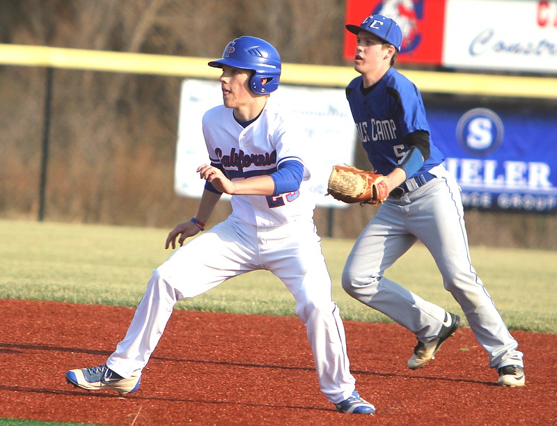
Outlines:
[[[395,68],[389,68],[370,88],[363,88],[363,78],[356,77],[346,87],[346,98],[368,159],[382,175],[391,173],[409,149],[406,136],[417,130],[430,133],[418,88]],[[443,154],[430,138],[430,157],[408,178],[443,161]]]

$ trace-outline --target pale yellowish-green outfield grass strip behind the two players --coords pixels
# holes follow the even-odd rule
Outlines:
[[[155,228],[0,220],[0,297],[136,306],[152,269],[172,252],[164,250],[167,233]],[[343,318],[390,321],[340,287],[352,240],[324,239],[322,245]],[[472,247],[471,254],[510,329],[557,332],[556,252]],[[386,275],[462,314],[421,244]],[[267,271],[234,278],[199,297],[180,301],[176,308],[295,315],[291,294]]]

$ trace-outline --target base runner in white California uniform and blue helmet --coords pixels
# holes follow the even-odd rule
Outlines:
[[[139,388],[141,371],[162,336],[174,304],[229,278],[267,269],[296,301],[313,350],[322,393],[338,411],[373,414],[359,397],[350,373],[345,331],[331,299],[327,271],[313,223],[310,173],[301,158],[299,134],[291,132],[278,104],[281,58],[265,40],[240,37],[210,66],[221,68],[223,105],[205,113],[203,134],[210,164],[198,168],[205,189],[194,218],[166,239],[177,251],[152,274],[127,334],[104,365],[70,370],[74,386],[116,390]],[[232,213],[205,230],[221,194],[232,195]],[[183,245],[182,245],[183,244]]]

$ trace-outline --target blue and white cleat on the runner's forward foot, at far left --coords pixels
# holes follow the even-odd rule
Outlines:
[[[79,368],[65,373],[65,379],[69,384],[87,390],[109,389],[116,390],[120,396],[134,392],[139,388],[140,376],[132,376],[124,379],[113,372],[107,365],[97,367]]]

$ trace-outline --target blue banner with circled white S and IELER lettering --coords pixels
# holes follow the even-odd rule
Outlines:
[[[543,107],[427,107],[431,137],[462,188],[464,207],[557,212],[557,120]]]

